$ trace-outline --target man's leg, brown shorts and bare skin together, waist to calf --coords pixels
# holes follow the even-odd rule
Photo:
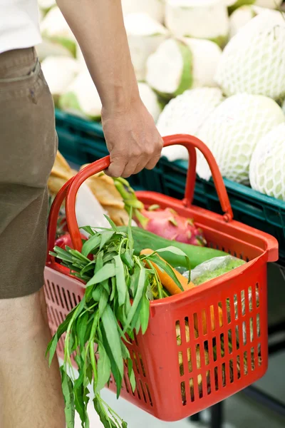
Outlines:
[[[0,54],[0,427],[64,428],[43,296],[51,93],[33,49]]]

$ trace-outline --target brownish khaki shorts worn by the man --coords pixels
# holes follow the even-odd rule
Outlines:
[[[56,150],[53,100],[35,50],[0,54],[0,299],[43,285]]]

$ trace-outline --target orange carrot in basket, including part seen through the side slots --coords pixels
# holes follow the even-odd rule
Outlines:
[[[142,250],[140,252],[140,255],[150,255],[152,253],[153,253],[152,250],[150,250],[149,248],[146,248],[145,250]],[[163,260],[160,257],[160,255],[158,255],[158,257],[161,260]],[[163,260],[163,261],[165,262],[165,260]],[[167,262],[165,262],[165,263],[167,263]],[[182,285],[182,288],[184,291],[191,290],[192,288],[196,287],[196,285],[194,285],[193,282],[188,283],[187,278],[184,277],[183,275],[181,275],[181,273],[178,272],[177,270],[175,270],[169,263],[167,263],[167,265],[169,265],[171,267],[171,269],[173,270],[173,272],[175,273],[177,280]],[[162,270],[160,270],[160,267],[158,267],[153,262],[152,262],[152,266],[155,268],[162,285],[166,288],[166,290],[168,292],[170,292],[171,295],[177,295],[177,294],[180,294],[182,292],[182,290],[180,290],[180,288],[177,287],[175,282],[172,280],[172,277],[167,275],[166,272],[162,272]],[[213,306],[210,307],[210,313],[211,313],[211,329],[212,329],[212,331],[214,331],[214,329],[216,327],[216,322],[214,320],[214,307]],[[219,327],[222,327],[223,317],[222,317],[222,308],[221,307],[218,307],[218,314],[219,314]],[[194,315],[194,325],[195,325],[195,329],[199,330],[197,314]],[[203,329],[203,335],[206,335],[207,334],[207,320],[206,320],[205,312],[202,312],[202,329]]]

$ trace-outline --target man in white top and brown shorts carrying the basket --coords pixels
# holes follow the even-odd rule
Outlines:
[[[153,168],[162,138],[143,106],[120,0],[58,0],[103,104],[107,173]],[[57,149],[51,93],[33,46],[36,0],[0,1],[0,427],[64,428],[43,297],[46,183]]]

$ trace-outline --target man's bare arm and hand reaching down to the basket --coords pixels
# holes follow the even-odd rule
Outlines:
[[[128,177],[152,169],[162,138],[138,93],[120,0],[57,0],[81,46],[102,101],[110,151],[107,173]]]

